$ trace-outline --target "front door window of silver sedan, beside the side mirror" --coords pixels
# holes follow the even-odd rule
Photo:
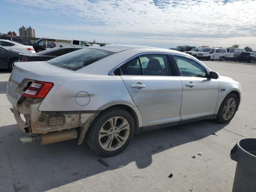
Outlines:
[[[207,77],[205,68],[196,61],[176,55],[174,56],[174,58],[180,70],[180,76],[203,78]]]

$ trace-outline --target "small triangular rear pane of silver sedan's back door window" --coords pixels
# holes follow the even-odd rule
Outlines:
[[[126,64],[122,65],[121,71],[123,75],[143,75],[138,57],[133,58]]]

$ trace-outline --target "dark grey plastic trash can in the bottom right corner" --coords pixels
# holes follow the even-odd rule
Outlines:
[[[256,138],[239,140],[230,158],[237,162],[232,192],[256,192]]]

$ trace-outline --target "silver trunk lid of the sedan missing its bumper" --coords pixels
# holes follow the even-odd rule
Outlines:
[[[16,107],[23,92],[31,82],[40,76],[51,76],[63,73],[70,73],[70,70],[59,68],[42,62],[16,62],[6,86],[6,96],[12,106]],[[48,77],[48,81],[51,79]]]

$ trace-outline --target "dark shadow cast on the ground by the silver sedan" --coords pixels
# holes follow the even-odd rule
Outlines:
[[[39,142],[22,144],[18,139],[24,133],[17,124],[2,126],[0,169],[3,176],[0,191],[43,192],[63,186],[102,172],[115,170],[136,162],[139,169],[152,164],[154,154],[212,135],[222,129],[221,125],[210,120],[142,132],[134,136],[130,145],[121,154],[102,158],[96,155],[84,142],[68,140],[41,146]],[[4,141],[2,143],[2,141]],[[1,147],[0,147],[1,150]],[[5,181],[6,180],[6,181]],[[2,188],[2,189],[1,189]]]

